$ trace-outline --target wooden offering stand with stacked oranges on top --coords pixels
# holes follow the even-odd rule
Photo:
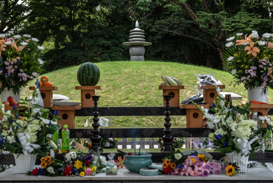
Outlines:
[[[35,87],[29,87],[30,90],[35,90]],[[58,90],[58,87],[40,87],[40,93],[44,101],[44,107],[50,108],[53,101],[53,91]]]

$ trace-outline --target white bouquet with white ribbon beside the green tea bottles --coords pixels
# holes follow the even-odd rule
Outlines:
[[[27,157],[33,155],[34,162],[32,163],[35,163],[37,154],[46,156],[49,150],[53,153],[52,148],[56,148],[51,136],[60,129],[57,120],[61,119],[57,116],[57,111],[51,113],[49,109],[37,105],[38,92],[40,93],[39,89],[33,91],[32,100],[29,102],[27,98],[21,99],[19,104],[22,106],[13,106],[12,111],[5,112],[4,104],[2,104],[0,149],[13,153],[15,161],[20,157],[26,160]],[[25,108],[25,111],[19,113],[18,108]]]

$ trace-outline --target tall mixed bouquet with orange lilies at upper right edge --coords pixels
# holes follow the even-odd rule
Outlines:
[[[253,30],[244,38],[243,33],[237,33],[228,39],[226,44],[226,66],[233,75],[236,84],[243,83],[246,89],[268,87],[273,76],[273,34],[265,33],[259,38]],[[264,90],[264,93],[266,90]]]

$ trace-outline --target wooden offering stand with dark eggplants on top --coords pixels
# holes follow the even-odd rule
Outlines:
[[[202,104],[198,106],[204,106],[209,108],[208,104]],[[181,104],[181,109],[186,109],[187,128],[202,128],[203,127],[203,113],[194,104]]]

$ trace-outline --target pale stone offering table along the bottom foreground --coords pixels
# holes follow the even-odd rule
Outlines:
[[[158,165],[160,166],[160,165]],[[140,176],[138,173],[130,173],[127,169],[119,169],[117,175],[106,175],[104,172],[95,176],[84,177],[46,177],[46,176],[27,176],[17,174],[16,166],[0,173],[1,182],[272,182],[273,172],[262,166],[260,163],[254,168],[248,168],[246,173],[239,173],[235,176],[226,176],[225,174],[212,175],[207,177],[192,177],[179,175],[159,174],[158,176]]]

